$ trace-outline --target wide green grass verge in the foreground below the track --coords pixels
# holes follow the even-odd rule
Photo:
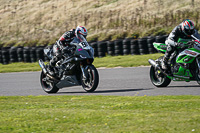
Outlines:
[[[1,96],[0,133],[200,131],[200,96]]]

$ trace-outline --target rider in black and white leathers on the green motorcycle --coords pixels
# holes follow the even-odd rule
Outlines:
[[[175,51],[176,47],[184,48],[184,43],[178,43],[179,38],[183,39],[192,39],[191,35],[195,32],[195,26],[192,20],[185,19],[182,23],[176,26],[172,32],[169,34],[168,38],[165,41],[167,45],[167,50],[161,61],[161,67],[164,70],[168,69],[168,60],[171,54]]]

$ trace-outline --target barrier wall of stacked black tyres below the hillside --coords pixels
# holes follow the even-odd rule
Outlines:
[[[153,47],[153,42],[165,43],[167,36],[149,36],[139,39],[126,38],[115,41],[91,42],[89,44],[94,49],[94,57],[152,54],[157,52]],[[44,55],[44,47],[2,47],[0,49],[0,63],[36,62],[39,59],[49,61]]]

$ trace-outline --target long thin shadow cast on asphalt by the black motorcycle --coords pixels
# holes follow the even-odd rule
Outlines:
[[[94,92],[86,92],[86,91],[76,91],[76,92],[57,92],[57,94],[67,94],[67,93],[114,93],[114,92],[131,92],[131,91],[143,91],[143,90],[152,90],[154,88],[149,89],[121,89],[121,90],[96,90]]]

